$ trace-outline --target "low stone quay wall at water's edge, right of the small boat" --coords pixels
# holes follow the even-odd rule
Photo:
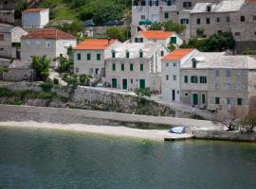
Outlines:
[[[239,131],[194,130],[194,138],[217,139],[229,141],[256,141],[256,133],[240,133]]]

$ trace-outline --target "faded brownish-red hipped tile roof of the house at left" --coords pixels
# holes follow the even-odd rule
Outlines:
[[[23,36],[24,39],[62,39],[62,40],[75,40],[76,38],[59,29],[40,29],[32,31]]]

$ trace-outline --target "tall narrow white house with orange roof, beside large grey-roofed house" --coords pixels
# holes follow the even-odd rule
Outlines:
[[[192,56],[195,53],[195,49],[175,49],[161,60],[161,86],[163,99],[175,102],[181,101],[180,70],[187,60],[192,60]]]

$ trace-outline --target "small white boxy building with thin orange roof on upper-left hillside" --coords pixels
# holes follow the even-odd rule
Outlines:
[[[49,22],[49,9],[26,9],[22,12],[22,26],[25,28],[44,28]]]

